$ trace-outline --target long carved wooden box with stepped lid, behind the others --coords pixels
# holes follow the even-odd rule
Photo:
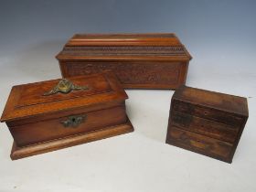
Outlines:
[[[78,34],[56,58],[64,78],[110,69],[123,88],[176,89],[191,56],[175,34]]]

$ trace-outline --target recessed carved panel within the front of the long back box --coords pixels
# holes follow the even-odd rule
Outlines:
[[[170,84],[179,78],[178,62],[68,62],[68,76],[113,70],[123,84]]]

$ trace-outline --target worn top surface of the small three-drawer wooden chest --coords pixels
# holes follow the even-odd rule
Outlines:
[[[183,85],[175,91],[173,99],[188,101],[200,106],[206,106],[242,116],[249,115],[247,99],[244,97],[200,90]]]

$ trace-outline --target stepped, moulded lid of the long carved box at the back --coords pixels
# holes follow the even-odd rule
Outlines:
[[[57,59],[192,59],[173,33],[76,34]]]

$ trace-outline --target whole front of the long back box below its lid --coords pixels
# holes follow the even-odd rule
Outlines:
[[[112,70],[123,88],[176,89],[186,81],[187,62],[181,61],[60,61],[64,78]]]

